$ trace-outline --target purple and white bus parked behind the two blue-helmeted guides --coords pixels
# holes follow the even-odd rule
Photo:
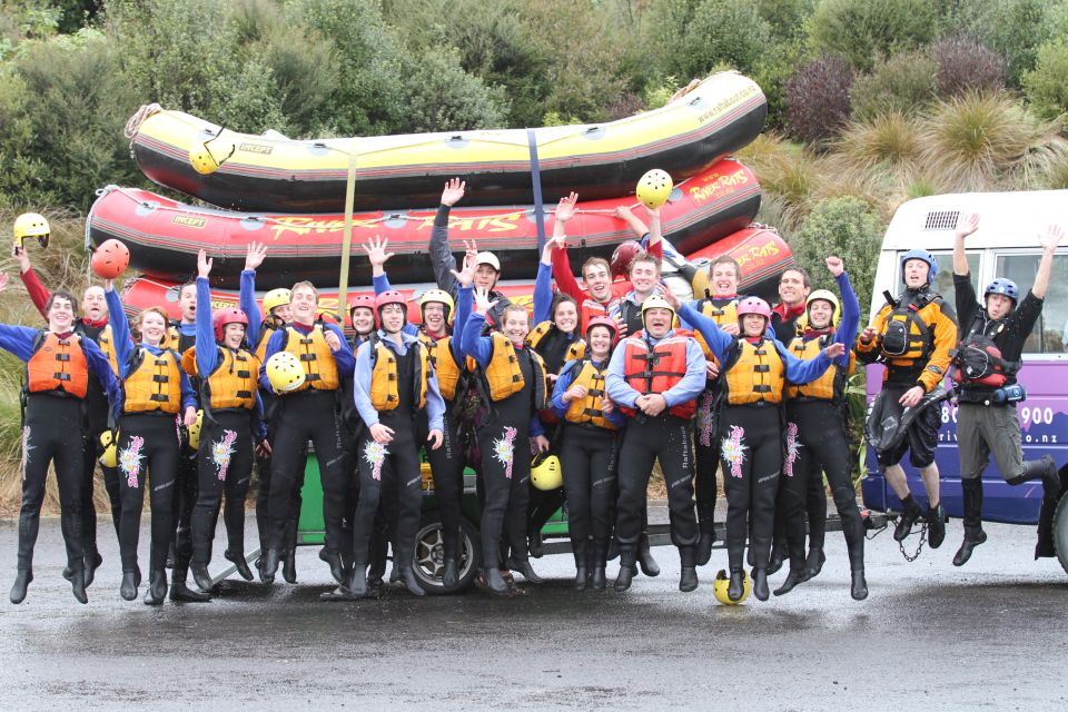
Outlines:
[[[879,254],[870,315],[884,303],[882,291],[897,296],[902,289],[900,256],[922,247],[938,260],[936,290],[955,307],[952,280],[953,229],[958,219],[979,214],[980,228],[966,243],[972,286],[981,296],[995,277],[1008,277],[1026,293],[1035,281],[1041,248],[1038,235],[1050,222],[1068,228],[1068,190],[991,192],[931,196],[910,200],[898,208]],[[1022,429],[1024,457],[1052,456],[1064,478],[1068,467],[1068,245],[1054,257],[1052,275],[1042,316],[1024,348],[1024,368],[1018,376],[1027,399],[1017,405]],[[882,380],[882,366],[868,367],[868,399]],[[957,457],[957,406],[946,402],[936,454],[942,482],[942,503],[952,517],[962,515],[960,466]],[[909,487],[919,497],[923,486],[919,473],[902,463]],[[862,482],[864,504],[879,511],[900,511],[901,503],[876,465],[869,449],[867,477]],[[1005,483],[992,458],[982,474],[983,520],[1010,524],[1036,524],[1042,501],[1041,481],[1012,487]],[[1068,571],[1068,500],[1061,498],[1055,524],[1058,557]]]

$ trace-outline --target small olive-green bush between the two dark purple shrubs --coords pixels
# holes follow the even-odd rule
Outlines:
[[[853,118],[867,121],[893,111],[912,112],[936,97],[938,63],[926,52],[899,52],[857,77],[850,90]]]

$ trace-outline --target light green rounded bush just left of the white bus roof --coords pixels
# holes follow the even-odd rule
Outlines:
[[[791,248],[798,264],[812,276],[812,288],[835,290],[834,278],[823,260],[838,255],[846,263],[853,291],[860,298],[861,323],[867,319],[868,301],[876,280],[873,255],[879,254],[886,226],[860,198],[844,196],[820,200],[813,206]]]

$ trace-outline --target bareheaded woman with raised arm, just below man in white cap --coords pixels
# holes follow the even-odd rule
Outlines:
[[[478,284],[477,271],[475,284]],[[466,289],[466,287],[464,288]],[[482,368],[479,390],[488,407],[478,426],[485,504],[482,510],[482,573],[479,583],[498,595],[510,586],[501,573],[501,535],[507,523],[507,543],[520,572],[540,583],[527,556],[526,522],[531,461],[528,441],[537,452],[548,449],[538,412],[546,406],[548,380],[542,357],[526,348],[530,316],[510,305],[501,312],[501,330],[482,336],[487,315],[498,305],[485,287],[475,289],[475,313],[464,325],[461,353]]]

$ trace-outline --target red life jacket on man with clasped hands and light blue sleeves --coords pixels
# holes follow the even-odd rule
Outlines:
[[[690,332],[675,329],[672,336],[661,339],[650,352],[644,332],[627,337],[623,342],[623,378],[642,395],[664,393],[674,387],[686,375],[686,343],[691,338]],[[637,414],[634,408],[621,411],[631,417]],[[689,421],[696,411],[698,400],[694,398],[672,406],[668,412]]]

